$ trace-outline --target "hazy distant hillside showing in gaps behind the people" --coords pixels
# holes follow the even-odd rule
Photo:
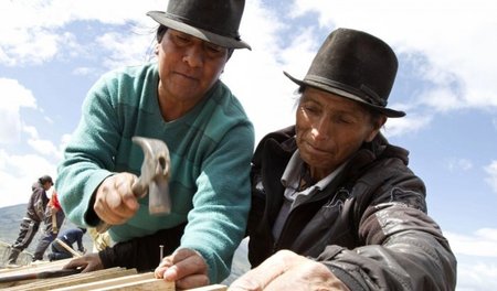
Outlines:
[[[7,206],[7,207],[0,207],[0,245],[7,245],[10,246],[14,242],[14,240],[18,238],[19,235],[19,226],[21,224],[22,217],[24,217],[27,204],[19,204],[13,206]],[[31,245],[28,247],[27,252],[32,254],[34,251],[34,248],[36,247],[38,239],[40,237],[40,234],[44,227],[44,224],[42,223],[39,229],[39,233],[34,237]],[[62,225],[62,230],[67,228],[76,227],[73,223],[71,223],[68,219],[64,220],[64,224]],[[2,244],[3,242],[3,244]],[[248,261],[246,259],[246,252],[247,252],[247,245],[246,239],[242,241],[239,249],[236,250],[233,263],[232,263],[232,273],[231,276],[223,282],[224,284],[230,284],[235,278],[244,273],[250,269]],[[87,250],[93,249],[93,242],[89,237],[89,235],[85,235],[83,237],[83,244],[85,245],[85,248]],[[46,250],[45,256],[49,254],[50,249]],[[7,260],[7,254],[0,254],[0,258]],[[3,266],[3,262],[0,262],[0,266]]]

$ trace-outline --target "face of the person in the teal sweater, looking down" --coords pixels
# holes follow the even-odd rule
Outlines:
[[[218,80],[225,47],[168,29],[158,44],[159,96],[197,104]]]

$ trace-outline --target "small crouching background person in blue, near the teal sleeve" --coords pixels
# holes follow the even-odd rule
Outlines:
[[[54,240],[52,242],[52,252],[49,254],[49,260],[63,260],[73,257],[73,254],[66,249],[65,247],[70,247],[74,249],[73,245],[76,244],[77,250],[83,255],[86,252],[85,247],[83,246],[83,236],[86,234],[86,228],[76,227],[70,228],[64,233],[60,234],[57,239],[65,244],[63,246],[60,241]]]

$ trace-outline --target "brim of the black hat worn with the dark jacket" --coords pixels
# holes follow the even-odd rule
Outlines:
[[[355,101],[358,101],[358,103],[367,106],[368,108],[371,108],[372,110],[376,110],[376,111],[379,111],[379,112],[385,115],[387,117],[395,118],[395,117],[404,117],[405,116],[404,111],[393,110],[393,109],[390,109],[387,107],[381,107],[381,106],[369,104],[369,103],[364,101],[362,98],[360,98],[351,93],[348,93],[346,90],[342,90],[340,88],[336,88],[336,87],[332,87],[332,86],[329,86],[329,85],[326,85],[322,83],[318,83],[318,82],[297,79],[286,72],[283,72],[283,74],[285,74],[285,76],[287,76],[290,80],[293,80],[295,84],[297,84],[299,86],[311,86],[311,87],[315,87],[315,88],[318,88],[318,89],[321,89],[321,90],[325,90],[328,93],[339,95],[339,96],[348,98],[348,99],[352,99]]]

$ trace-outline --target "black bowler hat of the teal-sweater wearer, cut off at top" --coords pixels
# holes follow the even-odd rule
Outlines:
[[[245,0],[169,0],[168,9],[147,15],[177,31],[228,48],[248,48],[240,39]]]

